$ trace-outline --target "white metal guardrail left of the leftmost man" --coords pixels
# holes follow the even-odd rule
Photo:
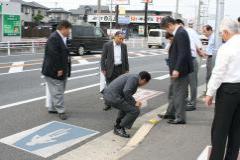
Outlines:
[[[46,41],[0,42],[0,55],[11,56],[18,54],[43,53]]]

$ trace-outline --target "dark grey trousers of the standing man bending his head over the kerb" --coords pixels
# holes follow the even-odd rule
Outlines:
[[[186,98],[188,76],[172,79],[169,87],[169,106],[167,115],[175,115],[176,119],[186,120]]]

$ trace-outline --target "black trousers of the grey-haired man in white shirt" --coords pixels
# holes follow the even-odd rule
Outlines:
[[[240,147],[240,83],[222,84],[217,91],[212,146],[210,160],[237,160]]]

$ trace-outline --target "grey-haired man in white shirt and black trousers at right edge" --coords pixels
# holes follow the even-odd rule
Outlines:
[[[239,25],[231,19],[221,24],[226,42],[218,53],[206,93],[206,104],[212,105],[216,93],[215,116],[212,124],[210,160],[237,160],[240,147],[240,35]]]

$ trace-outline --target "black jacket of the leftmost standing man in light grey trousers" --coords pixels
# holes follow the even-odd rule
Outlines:
[[[58,77],[58,71],[63,70],[63,76]],[[64,80],[71,73],[69,50],[58,32],[53,32],[46,44],[42,65],[42,74],[53,79]]]

